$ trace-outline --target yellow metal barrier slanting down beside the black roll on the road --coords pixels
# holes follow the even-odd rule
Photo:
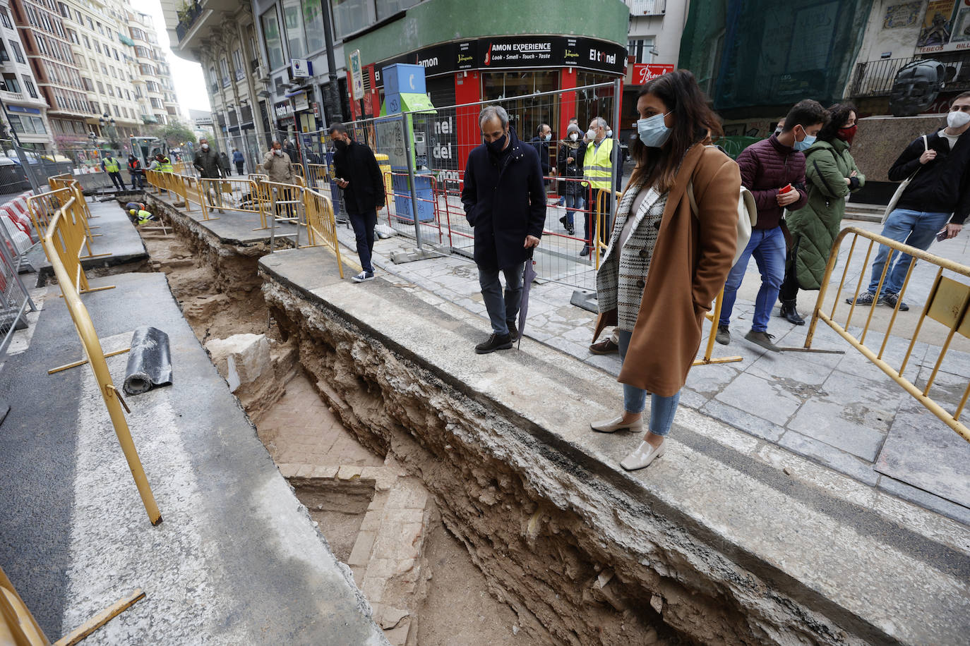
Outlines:
[[[125,459],[128,461],[128,468],[135,478],[138,493],[141,495],[142,503],[148,513],[148,520],[151,521],[152,525],[157,525],[162,522],[162,514],[155,504],[155,497],[151,493],[145,470],[142,468],[142,461],[139,459],[135,443],[131,439],[128,422],[121,410],[122,406],[125,409],[128,406],[121,398],[121,392],[114,386],[111,373],[108,371],[108,362],[105,360],[104,351],[101,349],[101,342],[98,340],[98,335],[94,331],[94,324],[91,323],[87,308],[84,307],[78,293],[81,291],[80,286],[83,286],[84,291],[94,290],[87,290],[87,279],[81,270],[78,254],[74,250],[75,247],[80,248],[80,234],[78,232],[80,228],[77,224],[74,224],[77,219],[76,212],[80,209],[75,207],[75,201],[75,198],[72,197],[54,214],[42,242],[45,251],[48,253],[54,275],[57,277],[57,283],[60,285],[64,302],[71,314],[71,320],[74,321],[75,329],[81,339],[81,348],[91,366],[94,378],[98,382],[98,389],[101,391],[105,406],[108,408],[108,414],[111,415],[114,433],[121,445]],[[71,275],[72,270],[74,276]]]

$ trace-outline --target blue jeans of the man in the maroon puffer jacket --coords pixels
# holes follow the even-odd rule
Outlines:
[[[741,287],[748,261],[755,257],[761,272],[761,289],[755,299],[755,319],[751,329],[764,332],[768,329],[771,308],[778,299],[778,290],[785,279],[785,234],[781,227],[756,229],[751,231],[751,240],[744,248],[741,258],[731,267],[725,283],[725,297],[721,303],[721,325],[730,323],[730,313],[737,299],[737,288]]]

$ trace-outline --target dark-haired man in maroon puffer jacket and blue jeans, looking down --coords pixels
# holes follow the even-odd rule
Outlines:
[[[795,104],[785,117],[785,127],[780,135],[752,143],[737,157],[741,184],[751,191],[758,204],[758,224],[751,231],[751,240],[744,253],[727,274],[716,336],[718,343],[730,343],[727,325],[731,310],[748,261],[754,256],[761,273],[761,288],[755,300],[751,331],[744,338],[766,350],[778,352],[771,340],[774,336],[768,334],[768,319],[785,278],[785,234],[780,223],[785,209],[799,209],[808,201],[802,151],[815,142],[827,121],[828,112],[822,104],[805,99]]]

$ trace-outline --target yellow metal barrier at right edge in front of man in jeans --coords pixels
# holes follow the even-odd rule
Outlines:
[[[828,283],[831,280],[832,273],[835,269],[835,264],[838,260],[839,249],[842,242],[849,235],[853,236],[852,246],[849,248],[849,257],[845,261],[845,268],[842,270],[842,279],[839,281],[839,287],[835,291],[835,300],[832,304],[831,312],[826,314],[823,308],[825,295],[828,292]],[[852,262],[853,254],[856,252],[856,243],[860,237],[869,240],[868,250],[865,254],[865,261],[862,262],[862,270],[859,273],[856,291],[852,296],[853,302],[849,306],[849,313],[846,316],[845,323],[836,323],[835,311],[838,309],[839,303],[842,300],[842,288],[845,286],[849,265]],[[872,323],[872,315],[876,309],[875,302],[873,303],[872,308],[869,310],[869,315],[866,317],[865,323],[862,325],[861,335],[857,338],[848,331],[849,326],[852,323],[853,315],[856,312],[855,301],[858,297],[859,291],[862,289],[864,281],[868,277],[867,269],[869,265],[869,258],[872,255],[873,247],[877,243],[889,247],[889,257],[886,260],[886,264],[883,266],[883,274],[879,278],[879,286],[876,289],[877,301],[879,296],[882,294],[883,283],[886,280],[886,274],[889,269],[889,265],[891,264],[893,255],[900,253],[908,254],[909,256],[913,257],[913,261],[910,262],[909,269],[906,272],[906,279],[903,282],[902,289],[899,291],[896,306],[892,311],[892,317],[889,319],[886,335],[883,338],[883,343],[880,346],[878,353],[873,352],[865,345],[865,337],[869,333],[869,325]],[[936,279],[933,281],[933,287],[926,295],[926,300],[922,306],[919,322],[917,323],[916,330],[913,332],[913,339],[910,341],[909,348],[906,350],[906,354],[903,356],[899,369],[896,370],[883,358],[883,354],[886,353],[886,346],[889,342],[889,334],[892,331],[892,326],[896,322],[896,315],[899,313],[899,303],[903,302],[903,297],[906,294],[906,288],[909,287],[910,277],[913,275],[913,268],[916,266],[917,261],[929,262],[930,264],[938,267],[938,269],[936,272]],[[970,285],[960,283],[952,278],[944,276],[944,269],[959,274],[960,276],[970,278],[970,266],[949,261],[945,258],[940,258],[939,256],[934,256],[933,254],[922,251],[921,249],[917,249],[916,247],[911,247],[909,245],[902,244],[901,242],[891,240],[883,235],[870,233],[869,231],[864,231],[862,229],[858,229],[857,227],[846,227],[838,234],[838,236],[836,236],[835,242],[832,244],[831,253],[828,255],[828,263],[825,266],[822,289],[819,291],[819,298],[815,303],[815,311],[812,314],[812,323],[809,325],[808,335],[805,337],[805,348],[811,349],[816,325],[820,320],[823,321],[825,324],[835,330],[839,336],[856,348],[859,353],[872,361],[883,372],[889,375],[892,381],[902,386],[906,392],[913,395],[913,397],[923,406],[925,406],[930,413],[939,417],[944,423],[950,426],[950,428],[954,429],[954,431],[956,431],[960,437],[970,442],[970,429],[959,421],[960,415],[966,406],[967,399],[970,398],[970,384],[968,384],[966,389],[963,391],[963,396],[953,413],[940,406],[929,394],[930,388],[932,388],[933,382],[936,380],[936,376],[940,371],[940,366],[943,364],[943,359],[946,357],[947,351],[950,349],[950,344],[954,339],[954,335],[961,334],[967,338],[970,338]],[[916,346],[917,338],[920,336],[920,330],[927,318],[945,325],[950,331],[947,334],[947,340],[940,349],[940,354],[936,358],[936,363],[933,366],[932,374],[929,376],[929,379],[926,380],[926,385],[920,388],[917,385],[914,385],[906,377],[903,377],[903,373],[906,372],[906,364],[909,362],[910,355],[913,354],[913,348]]]

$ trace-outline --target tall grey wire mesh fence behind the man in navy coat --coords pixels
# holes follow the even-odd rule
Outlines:
[[[461,200],[465,164],[471,149],[481,142],[481,108],[498,105],[508,112],[509,123],[520,140],[539,151],[543,166],[548,164],[544,179],[546,220],[542,243],[533,257],[536,272],[545,280],[594,289],[602,247],[593,241],[607,238],[616,194],[593,190],[582,179],[581,169],[571,172],[573,176],[564,176],[559,153],[567,145],[563,140],[566,133],[558,133],[550,141],[539,141],[535,135],[539,124],[555,128],[564,114],[567,118],[588,115],[586,122],[579,124],[582,132],[594,116],[619,131],[619,102],[614,101],[619,95],[618,85],[609,82],[577,87],[568,91],[568,99],[562,91],[537,92],[348,122],[345,125],[351,137],[371,147],[384,175],[386,203],[378,212],[378,222],[414,238],[419,248],[431,245],[470,256],[473,231]],[[299,137],[303,142],[299,150],[290,150],[294,169],[309,188],[330,198],[338,215],[345,212],[342,192],[333,181],[329,137],[322,131]],[[307,146],[307,141],[312,143]],[[618,139],[614,139],[612,168],[622,168]],[[574,176],[577,174],[580,176]],[[615,185],[619,185],[618,177]]]

